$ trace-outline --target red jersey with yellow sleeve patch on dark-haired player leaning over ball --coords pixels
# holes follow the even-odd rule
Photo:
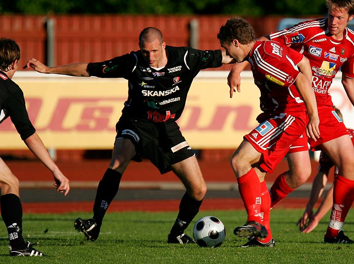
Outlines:
[[[260,90],[260,109],[265,114],[306,111],[294,85],[300,73],[296,65],[302,58],[303,55],[275,41],[255,42],[248,61]]]

